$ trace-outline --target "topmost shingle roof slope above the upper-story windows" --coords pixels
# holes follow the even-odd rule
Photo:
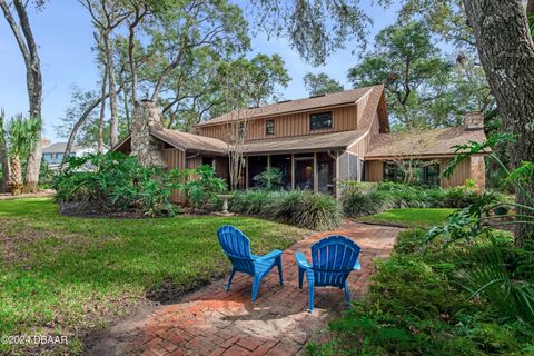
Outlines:
[[[376,86],[382,89],[382,86]],[[324,107],[333,107],[339,105],[355,103],[358,101],[365,93],[376,87],[365,87],[353,90],[345,90],[339,92],[327,93],[325,96],[318,96],[313,98],[297,99],[280,101],[276,103],[266,105],[258,108],[249,108],[240,110],[239,112],[234,110],[229,113],[225,113],[212,118],[211,120],[200,122],[197,126],[209,126],[214,123],[226,122],[229,119],[245,119],[245,118],[260,118],[266,116],[277,116],[288,112],[305,111],[319,109]]]

